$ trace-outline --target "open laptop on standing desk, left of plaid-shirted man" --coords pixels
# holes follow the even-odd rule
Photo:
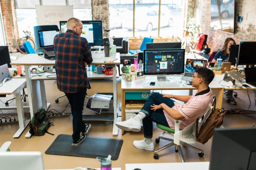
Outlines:
[[[59,34],[59,29],[38,31],[39,45],[44,51],[44,58],[46,59],[55,57],[53,40],[57,34]]]

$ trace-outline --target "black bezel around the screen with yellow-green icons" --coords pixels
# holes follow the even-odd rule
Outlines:
[[[177,51],[177,50],[179,50],[179,51],[183,51],[183,71],[181,71],[181,72],[168,72],[168,73],[162,73],[162,72],[159,72],[159,73],[154,73],[154,72],[150,72],[150,73],[148,73],[148,72],[145,72],[145,68],[146,68],[146,59],[145,59],[145,52],[146,51],[171,51],[171,50],[173,50],[173,51]],[[184,73],[184,62],[185,62],[185,49],[182,49],[182,48],[180,48],[180,49],[144,49],[143,50],[143,74],[144,75],[159,75],[159,74],[162,74],[162,75],[168,75],[168,74],[181,74],[181,73]]]

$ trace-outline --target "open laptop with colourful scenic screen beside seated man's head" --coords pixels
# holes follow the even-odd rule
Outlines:
[[[187,59],[185,65],[185,72],[182,76],[182,80],[191,82],[192,76],[196,72],[197,67],[206,67],[207,60],[203,59]]]

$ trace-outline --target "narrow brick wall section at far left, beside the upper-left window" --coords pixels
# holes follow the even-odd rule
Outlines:
[[[6,36],[6,42],[10,43],[12,52],[14,52],[16,50],[16,42],[18,39],[14,0],[1,0],[1,8],[3,14],[3,28]]]

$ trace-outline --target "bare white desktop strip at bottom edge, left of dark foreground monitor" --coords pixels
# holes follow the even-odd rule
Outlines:
[[[210,162],[183,162],[183,163],[126,163],[125,170],[156,170],[156,169],[175,169],[175,170],[208,170]]]

